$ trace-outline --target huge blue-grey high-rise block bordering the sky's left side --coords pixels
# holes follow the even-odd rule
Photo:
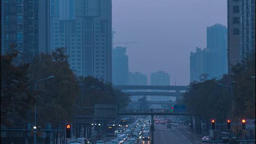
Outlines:
[[[79,76],[112,80],[111,0],[51,0],[50,47],[65,47]]]

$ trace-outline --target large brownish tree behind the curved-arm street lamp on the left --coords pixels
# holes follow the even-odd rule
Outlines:
[[[65,53],[64,48],[58,48],[49,54],[42,53],[33,59],[29,68],[33,91],[35,81],[54,76],[52,79],[38,82],[37,91],[34,91],[37,100],[37,119],[41,126],[45,122],[55,124],[71,121],[74,99],[80,89]]]

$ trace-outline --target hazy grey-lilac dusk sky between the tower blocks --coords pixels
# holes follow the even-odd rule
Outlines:
[[[190,82],[190,52],[206,47],[206,27],[227,26],[227,0],[112,0],[114,42],[127,44],[129,71]],[[125,46],[119,44],[115,46]]]

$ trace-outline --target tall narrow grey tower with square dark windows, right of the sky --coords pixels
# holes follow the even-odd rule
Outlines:
[[[240,0],[228,0],[228,73],[240,61]],[[241,0],[243,1],[243,0]]]

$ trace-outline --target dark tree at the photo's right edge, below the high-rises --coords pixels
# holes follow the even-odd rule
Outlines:
[[[232,67],[236,119],[255,119],[255,56],[244,59]]]

